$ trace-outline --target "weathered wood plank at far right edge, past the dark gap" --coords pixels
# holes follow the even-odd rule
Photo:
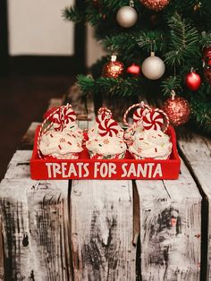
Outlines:
[[[204,255],[202,261],[207,264],[207,269],[203,269],[202,279],[211,280],[211,140],[193,132],[189,134],[180,133],[179,148],[181,149],[182,158],[189,165],[199,189],[204,194],[202,212],[206,213],[202,221],[205,232],[205,240],[202,242],[202,254]]]

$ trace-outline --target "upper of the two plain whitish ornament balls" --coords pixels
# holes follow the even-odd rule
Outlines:
[[[131,28],[137,21],[138,14],[131,6],[123,6],[116,14],[116,21],[123,28]]]

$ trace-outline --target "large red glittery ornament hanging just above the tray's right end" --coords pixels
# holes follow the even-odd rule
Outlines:
[[[170,123],[174,127],[189,121],[191,109],[185,98],[168,98],[162,109],[169,116]]]

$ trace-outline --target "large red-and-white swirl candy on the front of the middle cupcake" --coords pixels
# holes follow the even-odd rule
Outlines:
[[[118,123],[114,119],[104,119],[98,124],[98,133],[101,137],[114,137],[119,132]]]

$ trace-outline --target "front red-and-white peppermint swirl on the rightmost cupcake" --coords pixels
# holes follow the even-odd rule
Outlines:
[[[146,115],[143,116],[143,127],[145,130],[161,130],[165,120],[163,115],[152,109]]]

